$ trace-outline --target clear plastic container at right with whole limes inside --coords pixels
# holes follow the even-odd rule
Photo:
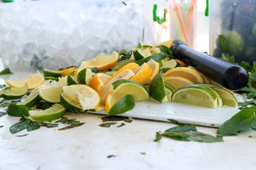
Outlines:
[[[234,55],[236,62],[256,61],[256,0],[210,0],[210,54]],[[219,45],[218,35],[227,39]]]

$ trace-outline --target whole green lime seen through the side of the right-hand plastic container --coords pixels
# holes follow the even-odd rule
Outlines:
[[[227,31],[223,35],[227,38],[228,42],[227,52],[230,55],[241,55],[245,45],[243,37],[235,31]]]

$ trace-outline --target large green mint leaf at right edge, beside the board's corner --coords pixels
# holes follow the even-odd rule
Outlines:
[[[231,119],[225,121],[217,131],[217,134],[229,136],[236,134],[241,130],[247,130],[256,127],[256,106],[243,109]]]

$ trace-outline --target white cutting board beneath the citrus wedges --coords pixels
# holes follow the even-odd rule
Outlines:
[[[20,80],[31,74],[30,72],[15,73],[3,75],[0,77],[0,84],[4,84],[6,79]],[[245,95],[234,93],[238,102],[245,102]],[[120,114],[119,116],[127,116],[140,119],[151,119],[168,121],[167,119],[175,119],[181,123],[196,124],[202,126],[219,127],[226,120],[239,112],[238,107],[221,107],[221,108],[207,108],[194,106],[189,104],[177,102],[157,103],[154,101],[136,102],[134,109]],[[104,114],[101,112],[89,112],[96,114]]]

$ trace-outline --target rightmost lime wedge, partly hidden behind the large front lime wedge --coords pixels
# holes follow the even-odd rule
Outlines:
[[[203,84],[203,85],[213,88],[218,93],[220,98],[222,99],[223,105],[230,106],[230,107],[237,106],[236,97],[228,89],[222,88],[217,85],[210,85],[210,84]]]

